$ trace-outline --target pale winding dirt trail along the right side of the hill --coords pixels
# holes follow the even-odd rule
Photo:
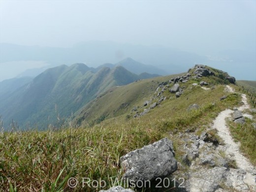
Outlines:
[[[234,90],[228,85],[226,86],[226,90],[228,92],[234,93]],[[241,107],[239,107],[238,110],[243,111],[245,109],[250,108],[250,105],[247,103],[246,95],[242,94],[241,96],[242,96],[242,102],[244,104]],[[255,186],[256,185],[255,183],[256,178],[254,176],[255,167],[250,163],[250,161],[246,157],[244,157],[241,154],[239,150],[240,143],[234,142],[230,134],[230,131],[226,126],[225,119],[230,117],[232,112],[233,110],[230,110],[230,109],[226,109],[222,111],[213,122],[214,123],[213,128],[216,128],[218,130],[219,136],[224,140],[226,153],[231,155],[232,158],[236,160],[238,168],[241,168],[247,172],[244,178],[244,182],[249,186]]]

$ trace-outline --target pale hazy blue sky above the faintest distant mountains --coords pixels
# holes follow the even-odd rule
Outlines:
[[[72,47],[92,40],[212,58],[256,52],[256,0],[0,0],[1,43]]]

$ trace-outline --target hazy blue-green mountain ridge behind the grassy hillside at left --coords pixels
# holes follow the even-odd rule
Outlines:
[[[7,125],[14,120],[22,127],[29,124],[46,128],[49,124],[63,123],[66,117],[111,87],[155,76],[159,75],[137,75],[121,65],[112,68],[60,65],[33,79],[22,78],[19,85],[20,79],[1,82],[0,115]],[[11,88],[13,91],[9,94]]]

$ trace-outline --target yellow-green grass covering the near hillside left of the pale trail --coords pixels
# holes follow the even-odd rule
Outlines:
[[[180,133],[200,134],[220,111],[239,106],[241,98],[225,92],[226,82],[222,78],[203,77],[181,83],[184,93],[178,98],[166,90],[163,92],[166,99],[157,107],[144,116],[132,118],[136,113],[132,108],[136,106],[138,111],[143,111],[148,107],[144,101],[156,96],[159,84],[172,77],[141,80],[110,89],[81,110],[79,118],[84,120],[78,128],[70,121],[69,126],[56,131],[1,132],[0,188],[4,191],[11,187],[19,191],[70,191],[67,180],[75,177],[79,183],[73,191],[100,190],[82,186],[82,178],[89,177],[109,181],[104,188],[107,189],[111,186],[109,178],[120,180],[122,177],[121,156],[163,137],[173,141],[175,158],[181,161],[186,152],[180,148],[185,142]],[[202,80],[209,82],[206,86],[209,90],[192,86]],[[227,98],[220,100],[224,95]],[[188,110],[194,103],[199,109]],[[100,123],[88,124],[89,120],[96,123],[103,115]],[[214,130],[211,135],[219,139]]]

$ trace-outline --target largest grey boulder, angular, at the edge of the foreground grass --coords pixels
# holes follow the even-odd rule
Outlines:
[[[172,142],[168,138],[129,152],[120,158],[125,170],[123,179],[152,181],[157,177],[169,176],[177,170],[174,155]]]

